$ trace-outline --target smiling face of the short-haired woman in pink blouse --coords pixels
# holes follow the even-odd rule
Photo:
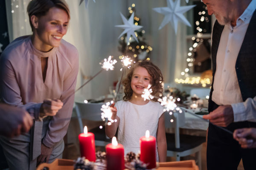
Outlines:
[[[58,47],[67,33],[68,15],[60,8],[50,8],[47,15],[38,18],[36,33],[39,39],[51,47]]]

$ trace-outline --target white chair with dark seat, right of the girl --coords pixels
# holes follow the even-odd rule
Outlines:
[[[164,113],[165,116],[165,127],[175,128],[175,133],[166,133],[167,141],[167,156],[176,157],[176,161],[180,161],[180,157],[188,156],[195,153],[197,164],[201,170],[201,149],[202,144],[206,142],[206,137],[202,136],[191,136],[179,133],[179,127],[185,125],[185,113]],[[173,120],[171,122],[170,120]]]

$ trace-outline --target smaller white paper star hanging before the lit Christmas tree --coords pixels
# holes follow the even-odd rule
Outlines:
[[[128,45],[128,43],[129,43],[129,40],[130,40],[131,35],[132,35],[132,37],[134,37],[134,39],[135,39],[137,42],[139,42],[138,39],[137,39],[137,37],[136,37],[136,35],[135,35],[135,33],[134,33],[134,31],[136,31],[136,30],[142,28],[143,26],[135,26],[135,24],[134,24],[134,12],[131,14],[131,17],[129,18],[129,20],[127,20],[127,19],[123,16],[123,14],[122,14],[121,12],[120,12],[120,14],[121,14],[122,20],[123,20],[123,22],[124,22],[124,25],[119,25],[119,26],[116,26],[116,27],[120,27],[120,28],[125,29],[125,30],[122,32],[122,34],[127,33],[127,45]],[[118,37],[118,39],[122,36],[122,34],[120,34],[120,36]]]

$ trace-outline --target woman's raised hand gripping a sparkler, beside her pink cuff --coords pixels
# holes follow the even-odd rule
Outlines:
[[[55,116],[62,106],[63,103],[59,99],[45,99],[40,108],[40,117]]]

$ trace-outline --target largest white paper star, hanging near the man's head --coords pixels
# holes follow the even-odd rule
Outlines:
[[[175,30],[175,34],[177,34],[178,29],[178,20],[184,23],[187,26],[191,27],[189,21],[184,17],[184,13],[194,8],[196,5],[192,6],[180,6],[180,0],[167,0],[167,7],[153,8],[154,11],[164,14],[163,22],[161,23],[159,30],[162,29],[167,23],[171,23],[172,27]]]

